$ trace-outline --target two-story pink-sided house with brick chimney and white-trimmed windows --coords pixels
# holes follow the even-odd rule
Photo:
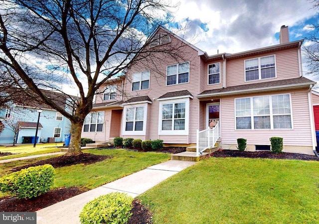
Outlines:
[[[282,26],[278,45],[209,56],[159,27],[145,46],[154,52],[101,87],[82,137],[161,139],[198,149],[198,131],[214,130],[222,149],[245,138],[247,150],[269,150],[269,139],[282,137],[284,151],[314,154],[316,82],[303,77],[302,43],[290,42]],[[178,56],[161,51],[170,47]]]

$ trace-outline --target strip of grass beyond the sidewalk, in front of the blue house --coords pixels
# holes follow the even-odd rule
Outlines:
[[[5,147],[0,146],[0,152],[11,152],[14,153],[13,155],[6,155],[6,156],[0,156],[0,160],[2,159],[8,159],[8,158],[18,158],[23,156],[29,156],[29,155],[37,155],[37,154],[45,154],[50,152],[57,152],[60,151],[59,148],[61,147],[63,143],[46,143],[46,144],[37,144],[35,148],[33,148],[33,145],[17,145],[15,147]]]

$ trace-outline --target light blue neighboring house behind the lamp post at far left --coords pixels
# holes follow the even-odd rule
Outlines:
[[[50,95],[59,105],[66,108],[66,100],[60,93],[50,92]],[[34,143],[39,111],[37,143],[64,142],[64,134],[69,133],[71,122],[50,106],[41,103],[41,100],[33,99],[15,102],[9,109],[0,110],[0,120],[5,127],[0,134],[0,145],[12,144],[15,132],[16,144]]]

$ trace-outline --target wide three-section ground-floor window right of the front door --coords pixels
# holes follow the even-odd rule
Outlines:
[[[290,94],[235,99],[236,129],[292,129]]]

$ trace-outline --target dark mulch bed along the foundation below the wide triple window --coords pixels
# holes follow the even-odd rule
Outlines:
[[[214,157],[246,157],[246,158],[273,158],[273,159],[299,159],[299,160],[317,160],[316,155],[306,155],[299,153],[281,152],[274,154],[271,151],[239,151],[239,150],[218,150],[210,153]]]

